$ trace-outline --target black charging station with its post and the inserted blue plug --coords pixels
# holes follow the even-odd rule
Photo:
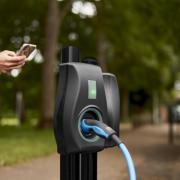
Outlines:
[[[121,144],[119,110],[116,77],[63,48],[54,116],[61,180],[97,180],[97,152]]]

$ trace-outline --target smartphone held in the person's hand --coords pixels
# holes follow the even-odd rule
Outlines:
[[[26,58],[28,58],[35,49],[36,49],[35,44],[23,44],[21,48],[17,51],[16,55],[18,56],[25,55]]]

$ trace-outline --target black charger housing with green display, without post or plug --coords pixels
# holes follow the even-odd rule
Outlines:
[[[98,65],[85,62],[80,62],[78,48],[62,49],[54,115],[57,149],[62,155],[93,153],[115,145],[91,133],[83,134],[80,128],[83,119],[103,121],[119,133],[116,77],[102,73]]]

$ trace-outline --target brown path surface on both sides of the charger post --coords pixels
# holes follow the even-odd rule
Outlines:
[[[133,154],[138,180],[180,180],[180,127],[175,145],[167,144],[167,125],[123,130]],[[98,180],[128,180],[124,159],[117,148],[99,153]],[[0,180],[59,180],[59,156],[0,168]]]

